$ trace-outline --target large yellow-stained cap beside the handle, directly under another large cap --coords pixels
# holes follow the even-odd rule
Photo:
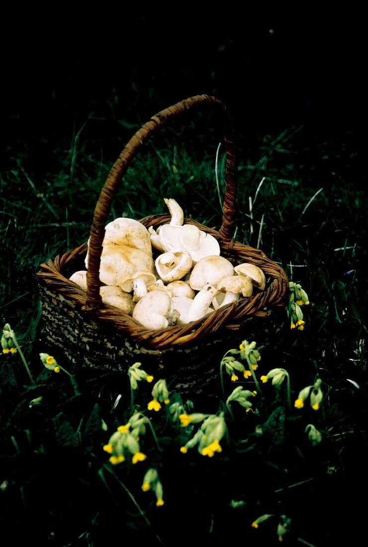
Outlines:
[[[88,253],[86,266],[88,265]],[[138,270],[152,271],[152,254],[147,254],[140,249],[121,245],[105,245],[101,253],[100,280],[105,285],[118,286],[118,280],[122,275],[133,274]]]

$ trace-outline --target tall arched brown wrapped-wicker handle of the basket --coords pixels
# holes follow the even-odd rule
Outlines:
[[[122,153],[112,166],[103,189],[99,195],[94,210],[93,222],[90,232],[90,245],[88,249],[87,270],[87,300],[86,309],[92,310],[100,307],[102,300],[99,294],[100,280],[99,268],[102,253],[102,242],[105,236],[105,224],[108,219],[112,199],[122,177],[127,172],[130,163],[135,158],[143,144],[153,133],[167,125],[175,118],[179,118],[189,110],[199,110],[202,106],[210,106],[220,110],[224,122],[226,169],[225,169],[225,197],[223,204],[222,225],[219,229],[219,237],[224,242],[230,242],[233,236],[233,225],[236,216],[236,181],[238,177],[238,153],[235,144],[235,130],[233,120],[225,105],[215,97],[209,95],[196,95],[180,101],[169,108],[161,110],[152,116],[130,139]]]

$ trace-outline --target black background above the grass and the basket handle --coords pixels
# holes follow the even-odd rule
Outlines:
[[[106,10],[78,18],[43,12],[29,21],[23,14],[21,25],[4,18],[5,155],[17,150],[47,162],[49,149],[93,115],[105,120],[98,138],[114,157],[117,119],[144,123],[203,93],[223,100],[250,140],[300,125],[365,139],[363,13],[352,7],[321,14],[309,4],[299,13],[224,8],[230,6],[223,13],[181,5],[163,14]]]

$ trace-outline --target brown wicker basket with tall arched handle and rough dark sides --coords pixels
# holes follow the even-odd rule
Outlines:
[[[186,218],[184,222],[216,237],[221,255],[234,266],[242,262],[259,266],[266,276],[266,288],[250,298],[223,306],[199,321],[149,330],[100,299],[99,263],[104,228],[118,184],[147,139],[172,120],[209,107],[218,111],[225,134],[222,225],[216,231],[192,219]],[[40,336],[46,345],[45,351],[60,353],[78,364],[120,371],[126,371],[128,365],[139,360],[150,373],[160,371],[171,387],[191,393],[193,389],[203,391],[211,382],[218,370],[221,351],[235,347],[238,340],[256,339],[261,345],[275,336],[285,316],[288,278],[262,251],[242,245],[232,237],[237,174],[233,122],[224,104],[216,98],[207,95],[188,98],[162,110],[144,124],[112,166],[100,193],[91,227],[87,292],[68,279],[74,271],[84,269],[87,243],[40,265],[37,272],[42,307]],[[146,228],[157,228],[170,222],[170,215],[146,217],[139,222]]]

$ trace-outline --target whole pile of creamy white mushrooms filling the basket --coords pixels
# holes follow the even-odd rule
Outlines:
[[[256,265],[233,266],[220,256],[215,237],[193,224],[173,199],[165,199],[168,224],[155,231],[130,218],[105,227],[99,277],[105,304],[118,307],[148,329],[187,324],[265,288]],[[155,260],[153,259],[155,253]],[[88,267],[88,253],[85,261]],[[86,271],[70,277],[86,290]]]

